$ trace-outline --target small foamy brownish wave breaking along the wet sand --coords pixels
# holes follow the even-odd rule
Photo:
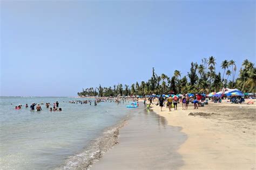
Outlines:
[[[56,169],[90,169],[93,163],[102,158],[110,148],[118,143],[119,130],[126,124],[124,120],[119,125],[107,129],[103,132],[103,136],[94,140],[94,142],[86,147],[82,152],[70,156],[63,167]]]

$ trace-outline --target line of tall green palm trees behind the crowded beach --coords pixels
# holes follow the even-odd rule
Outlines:
[[[201,59],[200,63],[191,62],[190,72],[181,77],[179,70],[175,70],[171,77],[166,74],[157,75],[152,68],[152,76],[147,81],[136,82],[129,87],[127,84],[117,84],[113,87],[86,88],[78,92],[78,96],[129,96],[151,94],[186,94],[221,91],[224,88],[238,88],[244,92],[255,93],[256,68],[254,63],[244,60],[235,79],[237,65],[234,60],[221,62],[223,73],[216,72],[216,60],[214,56]]]

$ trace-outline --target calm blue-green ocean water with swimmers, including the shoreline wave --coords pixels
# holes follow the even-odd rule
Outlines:
[[[1,169],[69,169],[91,164],[111,147],[129,115],[126,103],[69,103],[70,97],[0,97]],[[62,111],[25,108],[59,102]],[[22,104],[20,110],[15,106]],[[83,167],[86,167],[83,165]]]

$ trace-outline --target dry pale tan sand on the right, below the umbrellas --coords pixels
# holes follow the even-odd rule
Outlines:
[[[192,104],[188,110],[181,105],[171,112],[156,105],[152,109],[187,134],[178,149],[184,161],[180,169],[255,169],[255,104],[210,102],[196,110]]]

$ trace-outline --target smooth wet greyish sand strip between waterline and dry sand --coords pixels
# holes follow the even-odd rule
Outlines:
[[[183,158],[177,150],[186,140],[181,128],[164,117],[142,109],[120,130],[119,144],[90,169],[178,169]]]

